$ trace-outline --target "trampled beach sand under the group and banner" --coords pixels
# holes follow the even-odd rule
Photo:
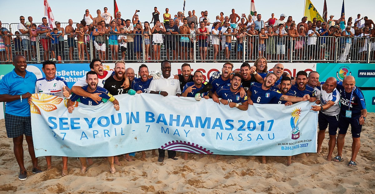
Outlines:
[[[351,133],[345,138],[344,161],[327,161],[328,130],[320,154],[296,156],[290,166],[286,157],[267,157],[261,164],[260,157],[220,156],[216,160],[205,155],[199,158],[189,154],[183,160],[165,159],[146,151],[146,160],[137,152],[134,161],[121,157],[121,166],[115,165],[116,173],[109,172],[105,158],[93,158],[94,164],[86,174],[80,173],[80,161],[69,158],[68,173],[62,177],[61,157],[52,157],[52,169],[39,174],[31,173],[31,160],[24,140],[25,167],[28,178],[18,180],[19,167],[13,154],[12,139],[7,138],[4,119],[0,120],[0,193],[267,193],[267,194],[314,194],[314,193],[375,193],[375,113],[369,113],[362,128],[361,148],[357,166],[347,166],[351,157]],[[337,149],[333,152],[335,157]],[[44,157],[38,159],[42,170],[46,169]]]

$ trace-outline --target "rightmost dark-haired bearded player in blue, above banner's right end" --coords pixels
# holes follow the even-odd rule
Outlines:
[[[310,96],[310,102],[314,102],[317,100],[317,97],[315,97],[315,91],[314,88],[307,85],[307,73],[305,71],[299,71],[297,72],[297,79],[296,84],[292,85],[290,88],[291,90],[296,91],[297,97],[303,97],[306,94],[309,94]]]

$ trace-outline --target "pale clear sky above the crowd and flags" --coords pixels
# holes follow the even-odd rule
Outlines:
[[[270,18],[271,13],[275,13],[276,18],[279,18],[282,13],[285,13],[287,16],[291,15],[296,22],[300,22],[303,16],[305,0],[254,1],[255,8],[258,13],[262,14],[262,19],[264,21],[267,21]],[[155,6],[158,8],[160,14],[165,13],[166,7],[169,8],[169,13],[172,15],[183,10],[183,0],[136,0],[130,2],[132,3],[129,3],[129,0],[117,0],[117,6],[121,12],[121,18],[123,19],[132,19],[135,10],[138,9],[140,10],[140,12],[138,12],[139,20],[141,22],[150,22],[151,13]],[[249,14],[250,0],[230,0],[229,2],[230,3],[228,3],[227,0],[186,0],[185,15],[187,16],[187,11],[195,9],[196,16],[199,18],[201,16],[200,12],[207,10],[208,18],[213,22],[220,12],[224,12],[224,16],[229,16],[232,8],[234,8],[236,13],[240,16],[242,13],[246,13],[246,15]],[[318,12],[323,15],[324,0],[311,0],[311,2],[314,4]],[[363,0],[358,2],[359,5],[354,6],[353,1],[345,1],[346,19],[351,16],[354,21],[358,13],[361,13],[362,16],[368,16],[369,19],[375,19],[375,1]],[[112,0],[48,0],[48,3],[49,6],[51,6],[55,20],[60,22],[68,22],[68,19],[73,19],[74,22],[79,22],[83,18],[86,9],[89,9],[90,14],[93,17],[97,16],[97,9],[100,9],[103,12],[104,7],[108,7],[108,12],[112,15],[114,12]],[[33,22],[41,22],[41,19],[44,16],[43,0],[0,0],[0,7],[3,10],[0,12],[0,21],[2,23],[19,23],[20,15],[25,16],[26,20],[27,16],[32,16]],[[327,0],[328,15],[335,15],[334,19],[340,18],[341,7],[342,0]],[[162,16],[160,16],[160,18],[162,18]]]

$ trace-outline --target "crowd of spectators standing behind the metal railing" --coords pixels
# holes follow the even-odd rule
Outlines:
[[[69,19],[65,28],[59,21],[55,22],[55,28],[49,27],[45,17],[37,25],[31,16],[27,22],[20,16],[14,34],[2,27],[0,21],[0,61],[10,62],[16,54],[25,55],[28,61],[37,61],[37,44],[39,51],[43,51],[39,56],[41,61],[87,61],[91,58],[90,48],[92,58],[104,61],[141,61],[142,58],[157,61],[165,57],[192,61],[194,44],[197,58],[214,62],[240,60],[243,54],[248,60],[264,56],[277,61],[289,60],[290,56],[297,61],[334,60],[335,56],[339,61],[363,61],[367,53],[375,57],[375,38],[371,39],[375,37],[375,24],[360,14],[354,23],[351,17],[346,21],[343,15],[335,20],[330,15],[327,22],[317,18],[308,21],[304,16],[297,24],[292,16],[286,19],[284,13],[279,18],[272,13],[264,21],[261,14],[240,16],[234,9],[229,16],[220,12],[215,20],[211,18],[213,22],[207,11],[202,11],[198,18],[195,10],[188,11],[185,17],[182,12],[172,16],[166,8],[160,18],[161,13],[154,7],[150,22],[139,20],[139,10],[135,10],[132,19],[121,18],[121,12],[113,18],[107,11],[107,7],[103,13],[98,9],[93,18],[86,9],[82,21],[74,26]],[[166,56],[162,56],[162,49]]]

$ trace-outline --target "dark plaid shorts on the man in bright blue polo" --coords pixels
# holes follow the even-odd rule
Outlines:
[[[5,128],[9,138],[22,136],[32,136],[31,116],[15,116],[5,113]]]

